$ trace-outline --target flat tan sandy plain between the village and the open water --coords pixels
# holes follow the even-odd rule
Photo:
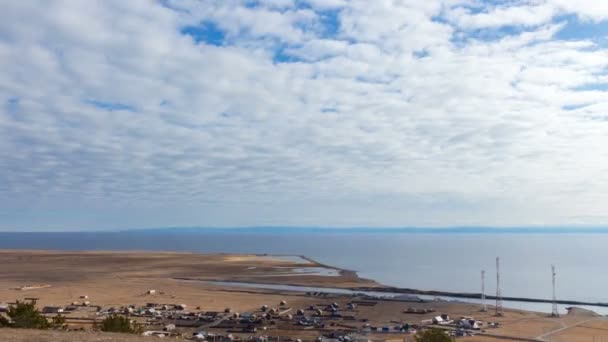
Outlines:
[[[201,306],[208,311],[226,307],[243,311],[284,297],[270,295],[261,300],[247,293],[218,291],[221,288],[217,286],[175,280],[180,277],[336,287],[377,285],[351,272],[337,277],[283,276],[285,268],[319,265],[255,255],[0,251],[0,265],[0,302],[33,297],[39,298],[41,306],[82,301],[79,297],[87,295],[94,305],[142,305],[153,301]],[[51,286],[17,290],[38,284]],[[150,289],[157,294],[146,295]]]

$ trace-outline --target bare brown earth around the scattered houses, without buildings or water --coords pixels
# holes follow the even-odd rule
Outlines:
[[[242,281],[272,284],[293,284],[317,287],[380,287],[371,280],[358,278],[356,273],[333,269],[314,261],[294,258],[258,255],[204,255],[189,253],[150,252],[57,252],[57,251],[0,251],[0,303],[10,303],[26,298],[37,298],[40,308],[65,307],[73,302],[80,304],[87,296],[90,305],[66,314],[71,329],[75,331],[34,331],[0,329],[0,341],[148,341],[157,337],[111,334],[91,330],[94,321],[103,319],[99,311],[109,307],[146,306],[147,303],[185,304],[188,310],[218,312],[221,322],[179,327],[182,336],[206,330],[218,335],[233,333],[245,339],[247,336],[280,336],[283,340],[300,338],[314,341],[320,335],[331,332],[350,332],[369,340],[411,340],[411,334],[393,331],[394,326],[405,323],[427,326],[428,320],[439,314],[452,318],[474,317],[485,322],[477,336],[459,338],[462,341],[608,341],[608,321],[587,311],[576,311],[559,318],[546,314],[506,310],[503,317],[492,312],[482,313],[478,305],[430,301],[412,303],[351,295],[320,295],[296,291],[264,290],[239,286],[218,286],[205,280]],[[301,274],[302,270],[329,268],[339,272],[336,276]],[[178,279],[179,278],[179,279]],[[198,279],[201,281],[180,280]],[[155,290],[153,294],[148,294]],[[280,306],[280,302],[286,304]],[[330,318],[322,313],[323,327],[297,324],[298,309],[310,306],[324,308],[336,303],[343,317]],[[346,310],[349,303],[356,308]],[[79,304],[79,305],[80,305]],[[234,312],[262,314],[262,305],[277,307],[289,312],[279,315],[267,330],[244,333],[234,331],[237,323],[230,318]],[[230,308],[230,314],[224,314]],[[404,313],[407,308],[434,309],[433,313]],[[290,310],[291,309],[291,310]],[[314,311],[314,310],[313,310]],[[224,316],[222,316],[224,315]],[[229,317],[230,316],[230,317]],[[288,317],[289,316],[289,317]],[[347,317],[349,317],[347,319]],[[159,330],[160,322],[150,317],[136,317],[146,323],[146,330]],[[424,324],[423,321],[426,321]],[[236,322],[236,321],[234,321]],[[487,327],[488,322],[499,323],[497,328]],[[162,323],[167,323],[162,321]],[[228,326],[226,326],[228,324]],[[230,324],[234,326],[229,326]],[[377,327],[379,331],[370,331]],[[382,327],[391,332],[382,333]],[[260,327],[261,328],[261,327]],[[453,329],[451,327],[443,327]],[[273,339],[270,339],[273,340]]]

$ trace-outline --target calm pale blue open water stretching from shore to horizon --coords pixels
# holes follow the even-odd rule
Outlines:
[[[608,302],[608,234],[0,233],[0,248],[303,254],[383,284],[504,296]]]

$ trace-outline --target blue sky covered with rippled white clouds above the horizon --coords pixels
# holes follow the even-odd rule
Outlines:
[[[608,225],[608,1],[0,2],[0,230]]]

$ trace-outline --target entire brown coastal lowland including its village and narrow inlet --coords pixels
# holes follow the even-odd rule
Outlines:
[[[487,324],[487,333],[498,340],[551,335],[584,342],[570,338],[580,331],[584,336],[608,336],[608,317],[592,309],[566,314],[561,306],[563,315],[556,318],[545,311],[551,305],[505,301],[504,315],[497,317],[493,308],[482,312],[475,299],[420,294],[443,293],[437,291],[410,294],[411,289],[385,286],[359,278],[355,271],[294,254],[0,250],[0,263],[4,265],[0,303],[36,298],[40,310],[62,309],[71,329],[87,331],[95,321],[118,311],[150,331],[175,325],[182,337],[192,336],[204,326],[213,334],[244,339],[267,335],[314,342],[322,335],[346,333],[364,334],[372,341],[395,336],[401,340],[407,337],[401,331],[403,324],[415,329],[445,327],[434,323],[438,315],[452,317],[452,323],[446,323],[451,324],[449,329],[456,328],[459,317],[474,317]],[[331,269],[332,275],[318,272],[320,267]],[[243,286],[246,282],[274,286]],[[32,284],[49,286],[17,290]],[[330,288],[335,290],[328,291]],[[253,315],[265,314],[264,308],[273,313],[271,322],[254,319],[252,323]],[[243,321],[244,317],[249,320]],[[485,341],[479,337],[464,340]]]

